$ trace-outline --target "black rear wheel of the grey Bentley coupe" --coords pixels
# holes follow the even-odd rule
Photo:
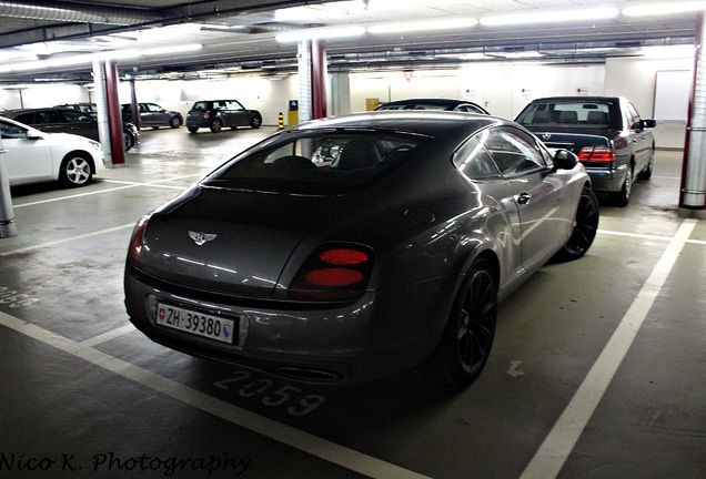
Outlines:
[[[464,387],[487,361],[497,323],[497,285],[490,264],[477,261],[468,273],[446,324],[433,367],[444,383]]]

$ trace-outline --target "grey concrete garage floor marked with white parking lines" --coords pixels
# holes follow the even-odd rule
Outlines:
[[[134,222],[273,129],[143,131],[84,188],[13,188],[0,240],[0,477],[704,478],[706,223],[677,216],[680,153],[578,262],[501,305],[478,381],[356,387],[192,358],[134,330]]]

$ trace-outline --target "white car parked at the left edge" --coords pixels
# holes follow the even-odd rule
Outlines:
[[[60,181],[83,186],[103,170],[97,141],[68,133],[46,133],[0,116],[4,152],[0,154],[10,185]]]

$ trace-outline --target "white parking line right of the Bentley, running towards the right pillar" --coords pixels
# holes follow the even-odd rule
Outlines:
[[[685,220],[679,226],[631,308],[618,324],[549,435],[527,465],[521,479],[553,479],[558,476],[613,380],[613,376],[621,367],[695,226],[696,220]]]

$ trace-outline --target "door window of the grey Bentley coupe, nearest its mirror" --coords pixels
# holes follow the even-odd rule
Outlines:
[[[483,144],[495,160],[503,176],[522,174],[547,166],[541,147],[534,137],[513,128],[495,128],[488,131]]]

